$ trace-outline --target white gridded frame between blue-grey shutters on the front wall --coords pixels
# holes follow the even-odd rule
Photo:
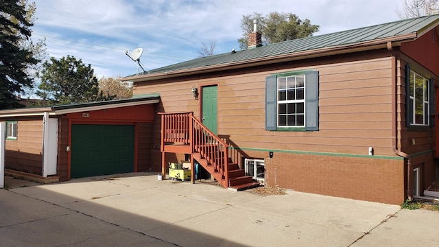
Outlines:
[[[298,78],[302,78],[302,85],[298,85],[298,83],[300,83],[300,82],[298,82]],[[282,88],[281,89],[281,83],[283,83],[283,82],[281,82],[281,81],[283,81],[283,80],[285,80],[285,89],[284,88]],[[276,119],[276,124],[277,124],[277,128],[305,128],[305,125],[306,125],[306,123],[305,123],[305,121],[306,121],[306,113],[307,113],[307,109],[305,108],[306,107],[306,104],[305,104],[305,100],[306,100],[306,82],[305,82],[305,80],[306,80],[306,76],[305,76],[305,74],[300,74],[300,75],[289,75],[289,76],[282,76],[282,77],[278,77],[277,78],[277,86],[276,86],[276,91],[277,91],[277,93],[276,93],[276,95],[277,95],[277,100],[276,100],[276,112],[277,112],[277,115],[276,115],[276,117],[277,117],[277,119]],[[289,87],[288,85],[291,85],[291,84],[294,84],[294,87]],[[303,91],[302,91],[302,99],[297,99],[297,95],[298,95],[298,89],[303,89]],[[294,94],[295,94],[295,97],[294,97],[294,99],[288,99],[288,91],[289,90],[291,90],[291,91],[294,91]],[[283,100],[283,99],[279,99],[279,95],[280,95],[280,93],[281,93],[281,91],[285,91],[285,100]],[[303,106],[303,109],[302,109],[302,111],[303,111],[303,113],[298,113],[297,112],[297,107],[296,107],[296,109],[294,110],[294,113],[288,113],[288,110],[287,110],[287,106],[285,107],[285,110],[286,110],[286,113],[285,114],[281,114],[281,110],[280,110],[280,107],[279,107],[279,105],[281,105],[281,104],[295,104],[296,106],[298,105],[298,104],[302,104],[302,106]],[[303,117],[303,124],[302,125],[297,125],[297,117],[298,116],[300,116],[300,115],[302,115],[302,117]],[[295,125],[291,125],[291,126],[289,126],[288,125],[288,120],[286,119],[285,120],[285,125],[279,125],[279,123],[281,122],[280,121],[280,117],[281,116],[286,116],[287,118],[288,117],[292,117],[292,116],[295,116],[296,117],[296,121],[295,121]]]

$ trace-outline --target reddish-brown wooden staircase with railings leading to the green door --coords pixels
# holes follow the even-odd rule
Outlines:
[[[161,113],[162,115],[162,174],[165,177],[165,153],[191,154],[191,181],[193,160],[197,161],[225,188],[237,190],[259,186],[252,176],[246,176],[237,161],[229,155],[229,145],[213,134],[193,113]]]

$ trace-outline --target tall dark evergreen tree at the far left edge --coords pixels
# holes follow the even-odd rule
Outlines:
[[[20,45],[30,38],[32,25],[21,1],[0,1],[0,109],[20,107],[16,95],[33,86],[27,67],[39,61]]]

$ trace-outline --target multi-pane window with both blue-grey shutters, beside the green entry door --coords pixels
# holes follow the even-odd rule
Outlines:
[[[318,71],[265,78],[265,130],[318,130]]]

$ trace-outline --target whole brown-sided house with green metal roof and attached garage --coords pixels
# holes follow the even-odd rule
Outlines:
[[[270,45],[255,30],[248,49],[124,78],[131,99],[0,110],[6,172],[166,176],[190,161],[224,187],[400,204],[439,178],[438,25],[432,15]]]

